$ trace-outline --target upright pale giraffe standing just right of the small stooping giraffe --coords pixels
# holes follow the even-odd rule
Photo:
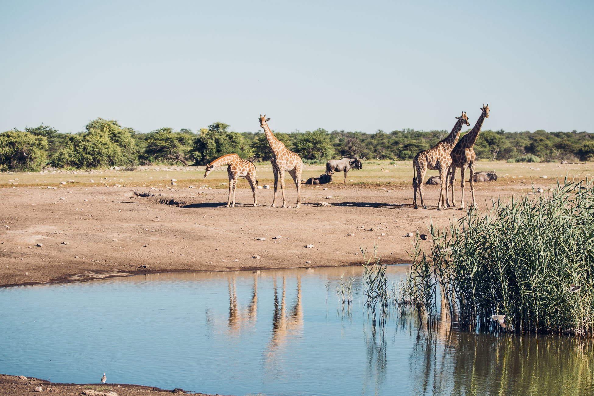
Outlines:
[[[268,140],[268,144],[270,144],[270,148],[272,149],[272,159],[270,160],[272,163],[272,171],[274,172],[274,196],[272,198],[272,207],[275,206],[274,202],[276,201],[276,189],[279,184],[279,176],[280,191],[283,194],[283,208],[287,207],[287,204],[285,203],[285,171],[287,171],[293,178],[295,186],[297,186],[297,204],[295,207],[298,208],[299,205],[301,205],[301,172],[304,167],[303,161],[298,154],[287,150],[285,144],[274,137],[274,134],[267,123],[267,121],[270,121],[270,118],[266,118],[266,114],[264,116],[260,115],[258,121],[260,121],[260,127],[264,128],[266,140]]]

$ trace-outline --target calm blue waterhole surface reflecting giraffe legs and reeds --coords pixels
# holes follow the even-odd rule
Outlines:
[[[390,266],[397,283],[408,267]],[[353,303],[337,300],[340,275]],[[220,394],[591,395],[592,343],[374,327],[361,267],[154,274],[0,289],[0,372]]]

